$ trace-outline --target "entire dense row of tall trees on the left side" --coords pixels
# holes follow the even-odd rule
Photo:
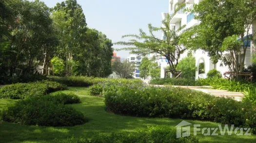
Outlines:
[[[112,41],[87,27],[77,0],[51,9],[39,0],[0,0],[0,31],[1,78],[33,74],[39,65],[43,75],[54,67],[57,75],[111,74]]]

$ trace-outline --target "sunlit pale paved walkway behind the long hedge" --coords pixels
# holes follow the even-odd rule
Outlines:
[[[164,87],[165,85],[154,85],[158,87]],[[166,85],[169,86],[169,85]],[[181,87],[181,88],[189,88],[197,91],[201,91],[210,95],[214,96],[224,96],[224,97],[234,97],[235,100],[241,101],[244,95],[240,92],[229,92],[227,90],[217,90],[217,89],[206,89],[210,88],[210,86],[174,86],[174,87]]]

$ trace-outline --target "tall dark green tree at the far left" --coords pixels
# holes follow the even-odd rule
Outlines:
[[[17,67],[30,72],[41,59],[43,45],[51,32],[49,8],[39,0],[5,0],[3,5],[10,12],[4,23],[8,34],[3,38],[8,43],[4,51],[10,76]]]

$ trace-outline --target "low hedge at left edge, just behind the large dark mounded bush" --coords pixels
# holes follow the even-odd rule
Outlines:
[[[16,83],[1,87],[0,98],[25,99],[31,96],[43,96],[66,88],[66,85],[46,80],[32,83]]]

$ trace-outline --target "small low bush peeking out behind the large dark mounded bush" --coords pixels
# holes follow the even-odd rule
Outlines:
[[[52,101],[56,104],[75,104],[81,103],[81,100],[78,95],[73,93],[64,94],[62,92],[57,92],[54,94],[42,96],[40,98],[45,99],[46,101]]]

